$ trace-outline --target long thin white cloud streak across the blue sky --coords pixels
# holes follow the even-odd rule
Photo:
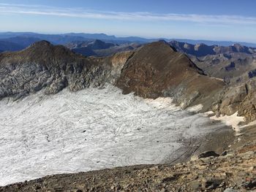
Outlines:
[[[72,18],[93,18],[106,20],[165,20],[187,21],[193,23],[222,25],[256,25],[255,17],[239,15],[196,15],[196,14],[158,14],[153,12],[102,12],[80,8],[57,8],[41,5],[1,4],[0,14],[52,15]]]

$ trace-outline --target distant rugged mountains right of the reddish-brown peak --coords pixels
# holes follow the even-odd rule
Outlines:
[[[178,52],[189,55],[189,58],[209,76],[223,79],[228,84],[245,82],[256,77],[256,48],[239,44],[192,45],[177,41],[171,41],[169,45]]]

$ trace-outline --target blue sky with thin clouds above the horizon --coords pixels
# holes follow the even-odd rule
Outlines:
[[[0,0],[0,31],[256,43],[255,0]]]

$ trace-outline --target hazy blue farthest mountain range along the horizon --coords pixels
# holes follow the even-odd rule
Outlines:
[[[26,38],[34,38],[47,40],[54,45],[64,45],[69,42],[74,41],[86,41],[89,39],[99,39],[104,42],[111,42],[117,44],[131,43],[137,42],[140,44],[155,42],[159,39],[163,39],[166,42],[170,42],[176,40],[178,42],[187,42],[190,44],[206,44],[206,45],[221,45],[221,46],[230,46],[233,44],[240,44],[246,47],[256,47],[256,43],[249,42],[230,42],[230,41],[209,41],[209,40],[194,40],[194,39],[167,39],[167,38],[156,38],[156,39],[146,39],[142,37],[116,37],[113,35],[107,34],[85,34],[85,33],[69,33],[69,34],[36,34],[32,32],[3,32],[0,33],[0,39],[9,39],[13,37],[26,37]]]

